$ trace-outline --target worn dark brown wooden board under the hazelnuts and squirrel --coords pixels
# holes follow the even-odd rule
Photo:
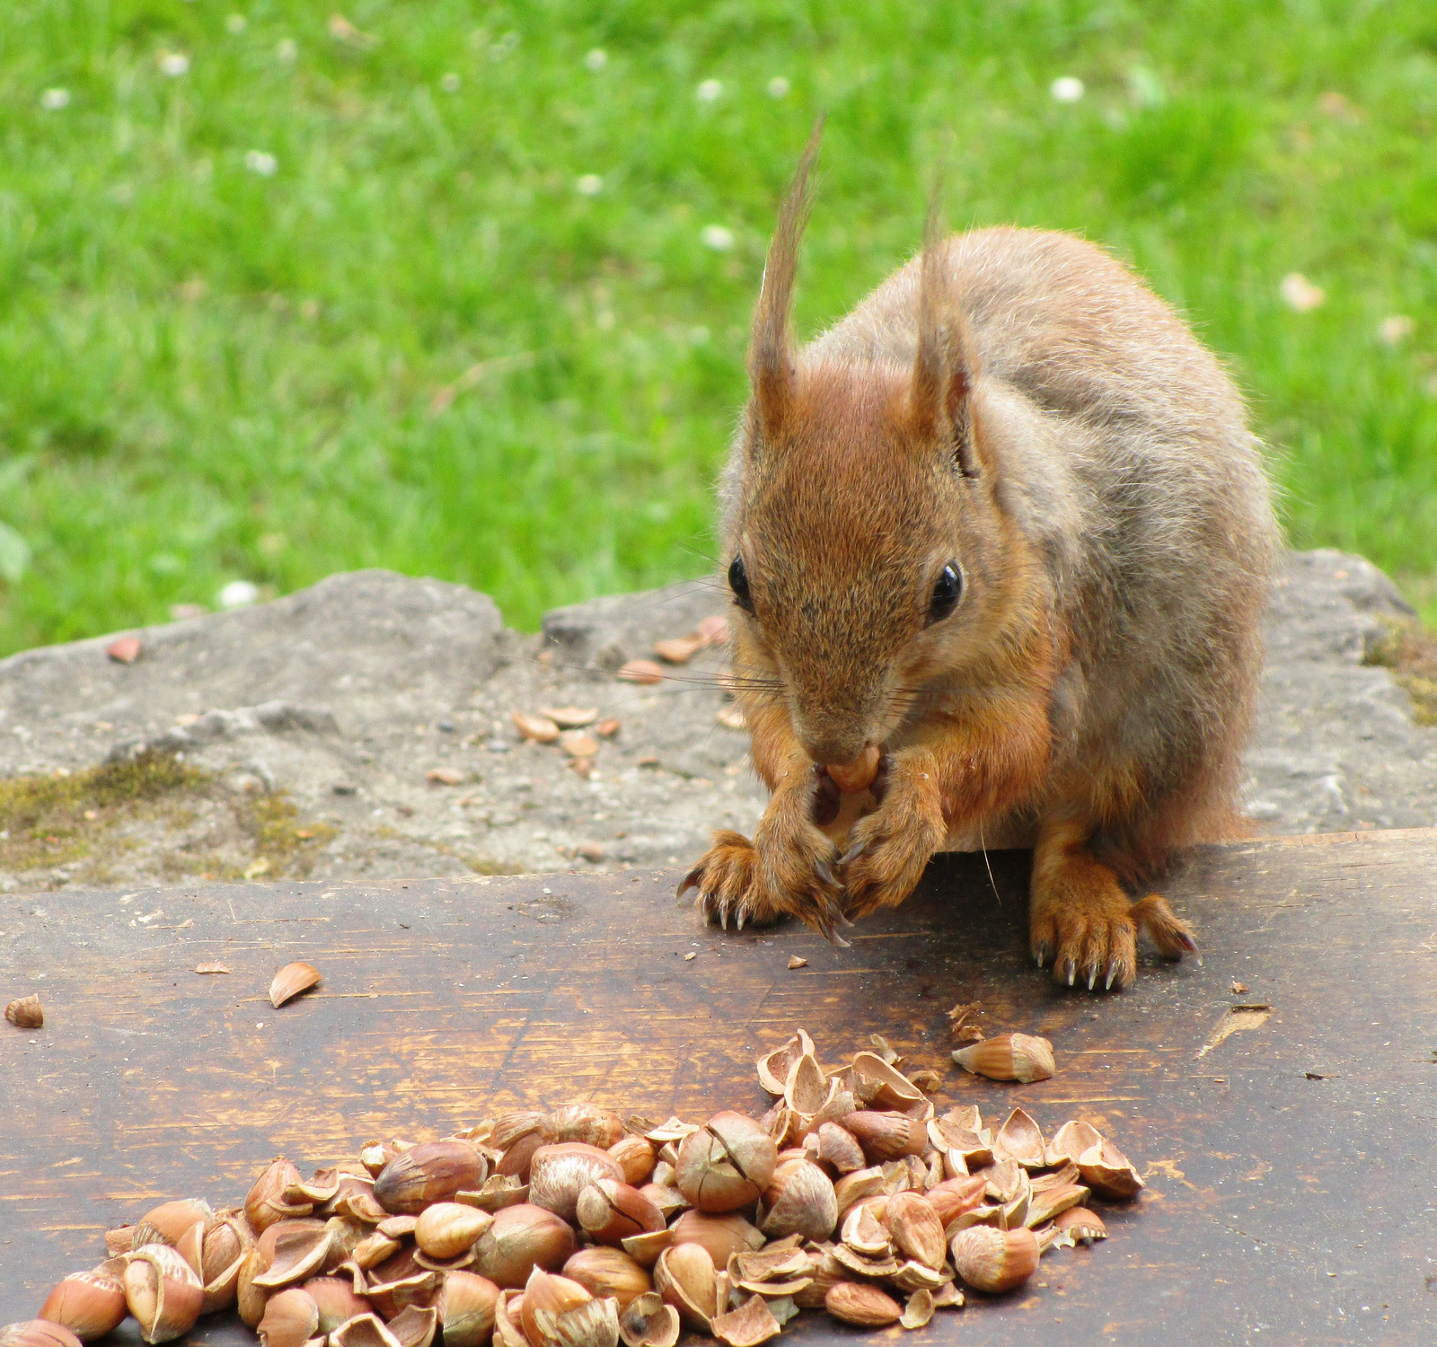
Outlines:
[[[279,1152],[328,1165],[569,1099],[757,1113],[753,1058],[803,1025],[829,1061],[884,1034],[943,1073],[940,1106],[1091,1117],[1148,1179],[1105,1209],[1106,1244],[924,1341],[1431,1341],[1434,864],[1437,831],[1203,852],[1167,892],[1206,964],[1148,961],[1109,997],[1029,965],[1016,853],[992,875],[941,857],[846,951],[701,931],[673,873],[4,896],[0,992],[39,991],[46,1025],[0,1024],[0,1320],[96,1262],[106,1226],[170,1196],[236,1202]],[[296,958],[323,985],[274,1011]],[[944,1012],[969,1001],[989,1033],[1052,1038],[1058,1076],[958,1071]],[[1273,1012],[1203,1054],[1234,1002]],[[253,1341],[228,1318],[191,1337]]]

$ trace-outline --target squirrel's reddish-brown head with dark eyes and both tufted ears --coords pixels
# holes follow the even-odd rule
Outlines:
[[[1010,533],[981,389],[930,213],[910,368],[803,356],[789,307],[818,131],[769,250],[729,484],[734,674],[815,763],[884,745],[938,671],[977,666]]]

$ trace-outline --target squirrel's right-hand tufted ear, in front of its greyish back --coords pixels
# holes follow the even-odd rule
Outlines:
[[[912,416],[924,437],[953,448],[964,477],[979,475],[973,444],[970,393],[977,362],[967,319],[957,306],[947,274],[947,240],[938,211],[940,184],[928,201],[918,264],[918,355],[912,370]]]

